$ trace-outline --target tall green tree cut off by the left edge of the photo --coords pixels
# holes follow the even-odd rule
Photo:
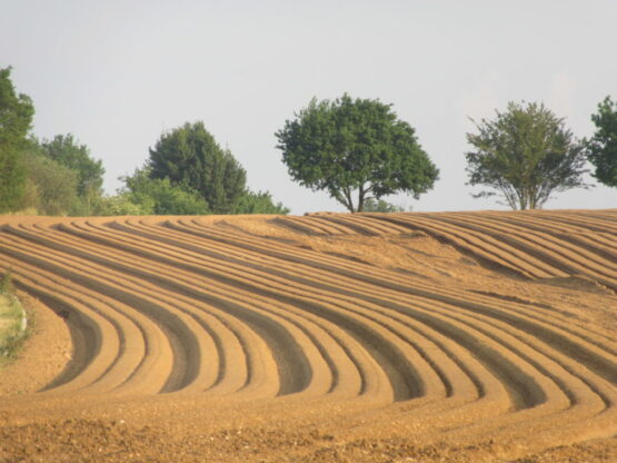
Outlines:
[[[0,69],[0,213],[18,207],[23,194],[21,149],[34,115],[32,100],[16,93],[10,76],[11,68]]]

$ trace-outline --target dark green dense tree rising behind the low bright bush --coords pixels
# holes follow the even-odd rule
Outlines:
[[[165,134],[150,149],[150,178],[197,191],[215,214],[232,213],[245,193],[246,171],[223,150],[203,122]]]

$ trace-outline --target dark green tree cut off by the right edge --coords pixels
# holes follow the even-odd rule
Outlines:
[[[610,187],[617,187],[617,101],[606,97],[591,116],[596,132],[587,140],[587,157],[596,167],[594,177]]]

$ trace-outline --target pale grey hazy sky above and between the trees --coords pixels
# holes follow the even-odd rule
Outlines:
[[[34,102],[34,134],[72,132],[106,189],[163,130],[202,120],[293,214],[344,210],[293,184],[275,131],[312,97],[394,104],[439,167],[414,210],[504,208],[466,186],[468,117],[544,101],[578,136],[617,98],[617,0],[0,0],[0,67]],[[595,183],[595,181],[593,181]],[[546,208],[617,207],[617,189],[558,194]]]

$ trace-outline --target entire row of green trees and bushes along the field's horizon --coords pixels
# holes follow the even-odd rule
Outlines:
[[[34,107],[17,93],[10,68],[0,69],[0,213],[44,215],[287,214],[270,193],[252,191],[247,173],[202,122],[165,132],[149,148],[146,164],[121,177],[116,195],[102,190],[102,162],[72,135],[39,140],[32,134]],[[474,121],[465,154],[468,184],[498,196],[512,209],[540,208],[553,194],[588,188],[594,177],[617,187],[617,101],[607,97],[591,116],[596,131],[577,139],[543,104],[509,102],[494,119]],[[439,169],[415,129],[391,105],[376,99],[309,105],[275,134],[295,181],[324,190],[349,211],[400,211],[384,197],[430,190]]]

